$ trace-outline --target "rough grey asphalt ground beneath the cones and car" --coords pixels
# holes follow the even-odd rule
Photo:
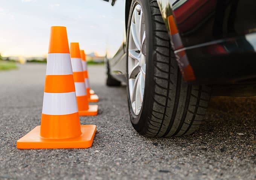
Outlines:
[[[40,124],[45,65],[0,72],[0,179],[256,179],[256,97],[213,97],[191,136],[145,138],[131,126],[125,87],[106,87],[105,68],[89,66],[100,98],[88,149],[18,150]]]

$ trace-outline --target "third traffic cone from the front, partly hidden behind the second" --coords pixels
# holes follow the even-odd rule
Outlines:
[[[88,102],[99,102],[99,97],[94,94],[94,90],[90,89],[90,83],[89,83],[88,71],[87,71],[87,61],[86,61],[84,50],[81,50],[80,54],[82,58],[82,67],[84,71],[84,81],[85,81],[86,91],[88,95]]]

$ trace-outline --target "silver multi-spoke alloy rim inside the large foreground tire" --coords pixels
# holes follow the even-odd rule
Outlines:
[[[139,115],[142,107],[146,75],[146,34],[142,7],[133,10],[128,43],[128,87],[133,112]]]

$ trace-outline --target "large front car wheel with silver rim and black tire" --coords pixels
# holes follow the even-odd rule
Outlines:
[[[134,129],[148,137],[181,136],[198,129],[211,86],[190,86],[183,81],[156,0],[131,2],[126,52]]]

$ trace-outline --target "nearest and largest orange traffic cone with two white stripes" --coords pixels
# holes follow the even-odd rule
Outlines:
[[[51,27],[41,126],[17,141],[19,149],[88,148],[95,125],[80,125],[66,27]]]

